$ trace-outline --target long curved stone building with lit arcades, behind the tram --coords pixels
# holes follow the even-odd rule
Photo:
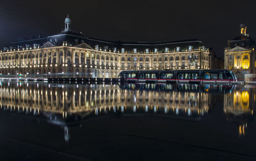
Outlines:
[[[123,70],[209,69],[209,49],[198,40],[109,42],[71,30],[10,43],[0,54],[2,75],[115,78]]]

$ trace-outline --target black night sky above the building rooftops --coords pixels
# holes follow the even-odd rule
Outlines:
[[[0,1],[0,45],[64,28],[84,36],[125,42],[163,42],[196,38],[223,56],[227,40],[245,23],[256,36],[256,1]]]

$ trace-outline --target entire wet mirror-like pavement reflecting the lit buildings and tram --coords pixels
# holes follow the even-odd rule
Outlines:
[[[256,160],[255,91],[1,82],[1,160]]]

